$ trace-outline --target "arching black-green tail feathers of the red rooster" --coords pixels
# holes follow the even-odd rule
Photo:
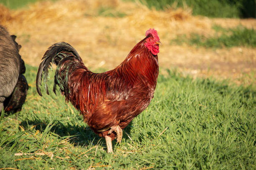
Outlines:
[[[49,95],[48,86],[46,84],[49,77],[48,69],[51,67],[52,63],[58,65],[59,62],[66,57],[74,57],[82,62],[77,51],[67,42],[57,42],[54,45],[51,45],[51,47],[49,47],[49,49],[44,53],[44,57],[42,58],[43,61],[39,65],[36,75],[36,90],[39,95],[42,96],[39,85],[41,85],[43,74],[46,93]]]

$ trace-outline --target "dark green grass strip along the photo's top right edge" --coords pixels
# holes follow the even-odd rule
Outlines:
[[[255,0],[140,0],[149,8],[168,6],[192,8],[193,15],[218,18],[256,18]]]

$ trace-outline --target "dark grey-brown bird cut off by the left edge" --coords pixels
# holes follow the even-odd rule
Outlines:
[[[0,113],[3,108],[5,112],[19,111],[27,96],[26,67],[15,39],[0,25]]]

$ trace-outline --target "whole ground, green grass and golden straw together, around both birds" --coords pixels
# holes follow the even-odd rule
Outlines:
[[[238,19],[255,18],[254,0],[2,2],[30,88],[20,112],[0,117],[0,170],[256,169],[256,20]],[[66,41],[90,69],[110,70],[153,27],[162,42],[154,99],[107,154],[64,97],[37,94],[40,59]]]

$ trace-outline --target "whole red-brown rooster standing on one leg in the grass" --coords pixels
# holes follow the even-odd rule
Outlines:
[[[57,65],[56,85],[66,101],[81,112],[84,121],[100,137],[105,138],[108,153],[113,153],[112,140],[121,142],[123,128],[148,107],[154,95],[159,73],[159,36],[156,30],[146,31],[146,37],[133,47],[125,60],[114,70],[91,72],[77,51],[66,42],[58,42],[45,52],[36,76],[36,89],[42,96],[44,74],[46,85],[51,63]]]

